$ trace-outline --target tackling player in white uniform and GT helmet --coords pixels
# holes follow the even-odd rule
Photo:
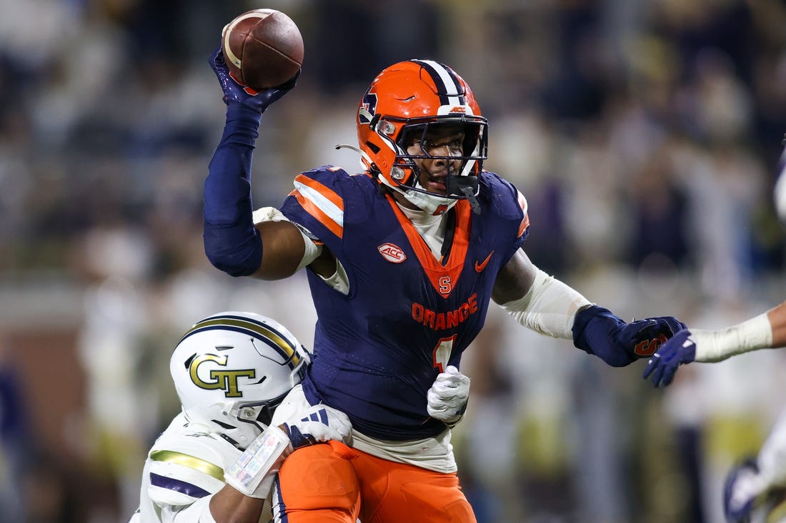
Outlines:
[[[182,412],[149,451],[130,523],[270,521],[270,492],[293,448],[350,438],[342,412],[284,400],[309,362],[265,316],[226,312],[194,324],[170,361]]]

